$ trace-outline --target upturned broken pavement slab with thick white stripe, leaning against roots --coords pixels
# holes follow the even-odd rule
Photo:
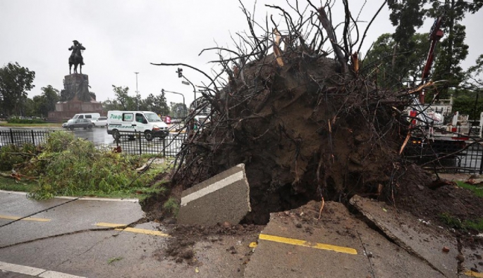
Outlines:
[[[245,164],[236,165],[181,194],[178,223],[213,226],[238,224],[251,211]]]

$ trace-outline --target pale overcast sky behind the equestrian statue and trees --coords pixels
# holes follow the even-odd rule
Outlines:
[[[263,23],[265,16],[279,11],[265,4],[281,6],[285,1],[259,0],[255,20]],[[325,1],[324,1],[325,2]],[[359,13],[365,1],[350,1],[351,11]],[[367,1],[359,20],[368,22],[383,3]],[[252,12],[254,0],[243,0]],[[295,4],[295,1],[291,1]],[[317,1],[312,1],[317,3]],[[306,2],[299,1],[300,6]],[[334,7],[334,22],[343,20],[341,7]],[[475,63],[483,53],[483,39],[479,28],[483,24],[482,11],[464,20],[470,55],[463,67]],[[432,19],[428,19],[420,32],[429,32]],[[360,28],[365,28],[360,23]],[[271,28],[272,26],[269,25]],[[129,87],[135,95],[136,75],[142,98],[159,94],[161,89],[178,91],[185,95],[186,103],[193,99],[191,86],[181,84],[176,67],[160,67],[149,63],[186,63],[209,73],[216,60],[214,51],[198,56],[202,49],[224,46],[234,49],[231,34],[248,30],[240,3],[235,0],[2,0],[0,1],[0,66],[18,62],[35,71],[35,88],[29,97],[40,94],[40,88],[52,85],[63,89],[63,77],[68,75],[68,48],[74,39],[85,46],[82,73],[89,75],[91,91],[98,101],[114,99],[112,85]],[[365,51],[379,35],[393,32],[387,8],[373,23],[365,40]],[[362,33],[362,32],[361,32]],[[207,82],[202,75],[189,68],[183,73],[194,84]],[[198,95],[199,96],[199,95]],[[182,102],[176,94],[166,94],[168,103]]]

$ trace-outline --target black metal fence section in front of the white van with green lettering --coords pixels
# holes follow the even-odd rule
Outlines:
[[[116,147],[120,148],[121,153],[176,156],[185,138],[184,133],[176,133],[169,134],[163,139],[154,138],[152,141],[147,141],[142,132],[121,132],[121,138],[116,140]]]

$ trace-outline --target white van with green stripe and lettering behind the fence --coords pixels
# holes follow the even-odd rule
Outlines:
[[[163,139],[168,136],[169,129],[159,116],[151,111],[109,111],[107,112],[107,134],[114,139],[123,135],[133,137],[133,134],[123,132],[143,132],[147,141],[155,137]]]

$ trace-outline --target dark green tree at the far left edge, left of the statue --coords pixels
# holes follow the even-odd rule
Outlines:
[[[27,91],[35,85],[35,72],[21,67],[18,63],[8,63],[0,68],[0,107],[7,114],[23,114]]]

